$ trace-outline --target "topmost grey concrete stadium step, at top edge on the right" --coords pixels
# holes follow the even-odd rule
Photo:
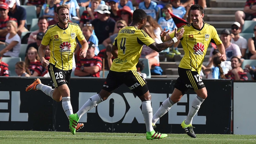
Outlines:
[[[210,0],[210,7],[244,7],[246,0]]]

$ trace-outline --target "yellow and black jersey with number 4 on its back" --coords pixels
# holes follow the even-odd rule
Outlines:
[[[148,36],[143,29],[135,26],[126,26],[118,32],[113,45],[118,47],[118,58],[113,60],[110,70],[127,72],[136,70],[143,45],[151,45],[154,39]]]

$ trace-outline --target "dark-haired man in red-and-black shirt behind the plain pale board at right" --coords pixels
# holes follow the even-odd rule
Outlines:
[[[247,74],[241,68],[241,61],[238,57],[231,58],[232,69],[225,75],[226,79],[248,80]]]

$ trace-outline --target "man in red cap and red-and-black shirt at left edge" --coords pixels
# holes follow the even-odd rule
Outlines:
[[[0,4],[0,41],[5,41],[5,36],[7,35],[8,31],[6,29],[7,22],[9,20],[14,20],[17,22],[16,18],[12,18],[8,16],[9,7],[7,3]]]

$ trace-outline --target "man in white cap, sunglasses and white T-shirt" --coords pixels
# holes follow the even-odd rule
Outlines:
[[[239,46],[242,54],[241,58],[244,58],[246,55],[247,40],[240,36],[239,33],[241,33],[241,24],[236,21],[231,25],[231,43]]]

